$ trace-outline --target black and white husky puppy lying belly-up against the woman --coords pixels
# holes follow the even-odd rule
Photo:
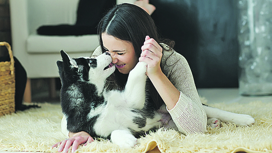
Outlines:
[[[68,131],[86,131],[92,137],[133,147],[137,138],[161,126],[161,113],[147,100],[145,62],[130,71],[123,91],[107,91],[106,78],[115,70],[109,53],[71,59],[61,51],[61,56],[63,61],[57,61],[57,65]]]

